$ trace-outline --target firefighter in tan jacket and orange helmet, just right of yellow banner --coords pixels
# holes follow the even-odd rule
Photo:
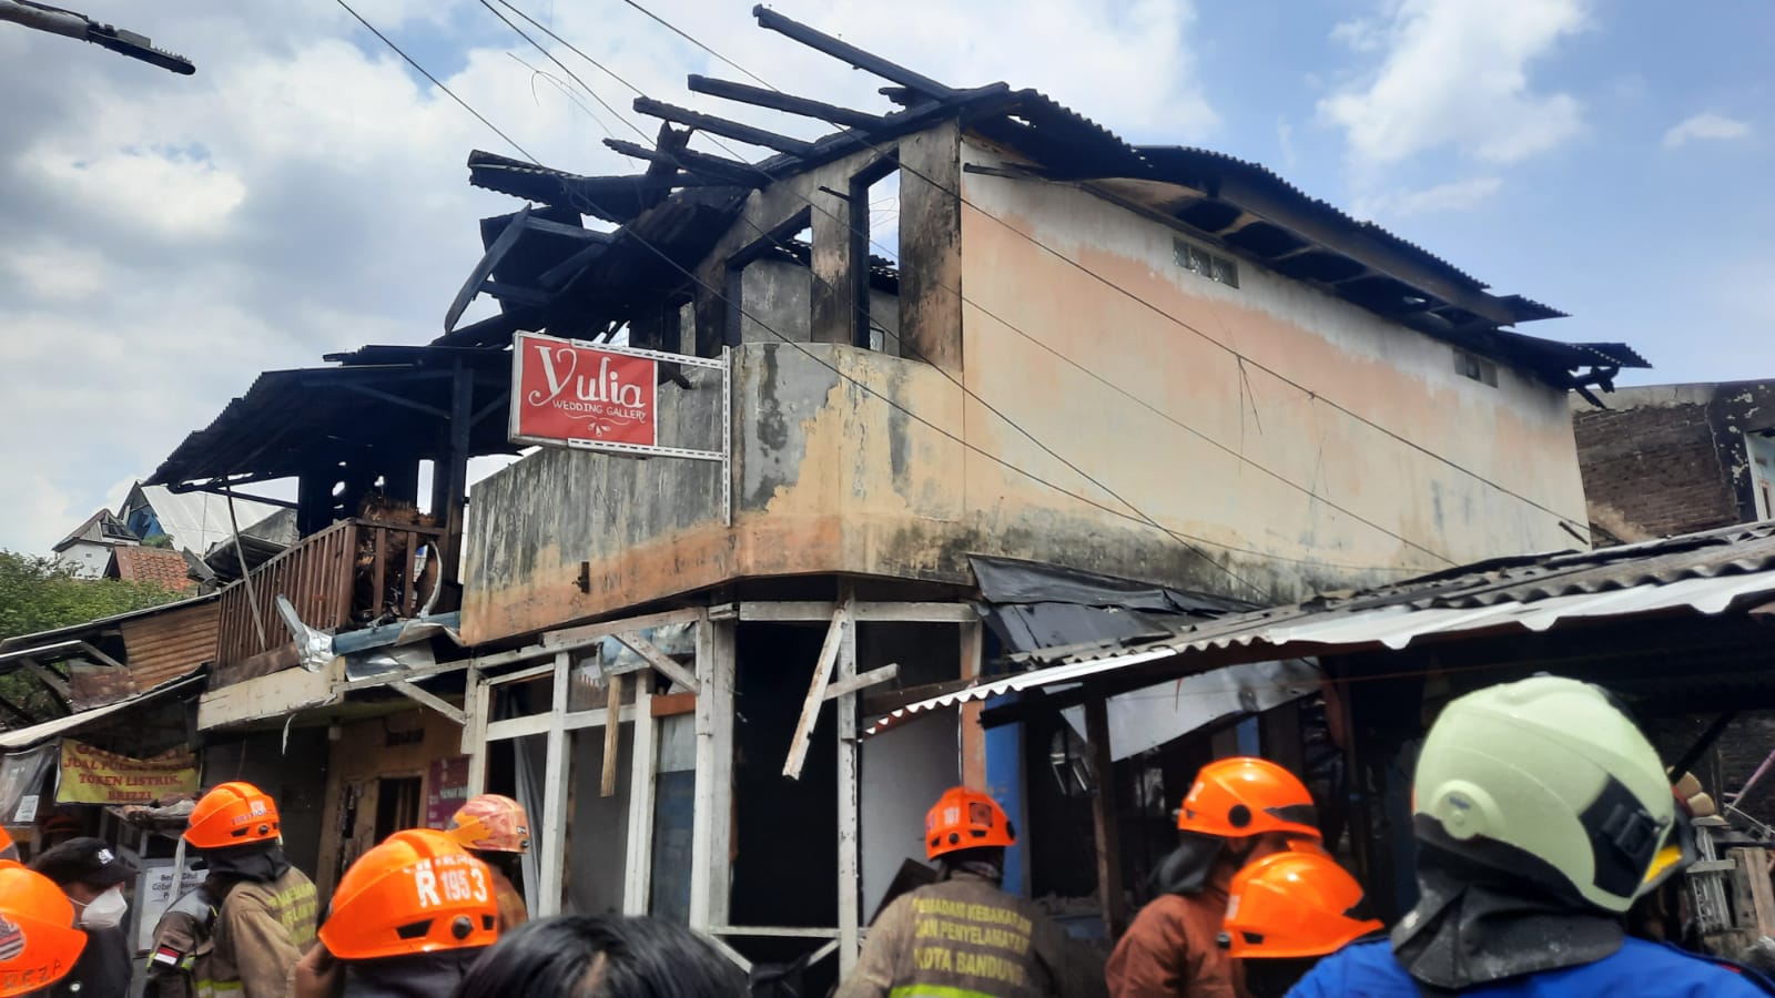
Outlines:
[[[209,867],[217,907],[209,952],[192,964],[197,994],[282,998],[289,968],[314,945],[320,900],[284,858],[277,803],[252,783],[222,783],[192,808],[185,842]]]

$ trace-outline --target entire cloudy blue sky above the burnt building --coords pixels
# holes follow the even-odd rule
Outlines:
[[[683,76],[735,71],[618,0],[513,2],[659,99],[733,110]],[[756,28],[749,0],[646,5],[786,91],[886,110],[879,80]],[[335,4],[250,7],[87,7],[195,59],[190,78],[0,23],[0,547],[46,550],[115,506],[261,369],[430,339],[476,218],[513,208],[463,169],[504,144]],[[543,162],[635,169],[600,146],[627,128],[525,69],[559,76],[477,2],[355,7]],[[1629,384],[1775,376],[1768,4],[776,7],[951,83],[1042,89],[1134,142],[1258,160],[1573,313],[1526,332],[1635,345],[1656,369]],[[557,55],[627,114],[628,91]]]

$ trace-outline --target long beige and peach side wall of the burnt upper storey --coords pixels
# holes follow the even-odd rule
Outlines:
[[[964,194],[969,387],[1141,513],[1212,542],[1203,550],[1255,588],[1296,595],[1573,545],[1558,517],[1503,488],[1585,524],[1564,392],[1503,366],[1496,387],[1459,376],[1448,345],[1242,257],[1239,288],[1200,277],[1173,261],[1175,231],[1063,185],[964,174]],[[1120,506],[983,405],[967,426],[1012,463]],[[1003,495],[1006,526],[1030,508],[1134,527],[989,460],[967,469],[971,494]]]

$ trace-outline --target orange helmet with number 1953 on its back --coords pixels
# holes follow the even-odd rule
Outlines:
[[[320,936],[346,961],[488,947],[499,938],[493,879],[444,831],[396,831],[339,877]]]

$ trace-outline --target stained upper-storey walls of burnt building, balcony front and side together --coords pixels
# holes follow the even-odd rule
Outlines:
[[[758,575],[969,584],[969,552],[1282,602],[1571,547],[1535,504],[1587,522],[1564,392],[1505,366],[1496,385],[1464,378],[1448,345],[1250,261],[1239,288],[1207,281],[1175,263],[1173,229],[1081,190],[958,176],[966,304],[957,282],[902,302],[941,368],[834,343],[840,316],[818,300],[816,343],[744,343],[733,529],[712,465],[543,451],[488,478],[469,520],[465,638]],[[792,215],[777,194],[754,195],[733,247]],[[815,281],[820,231],[816,217]],[[919,245],[955,265],[957,243],[937,236],[902,240],[909,272]],[[712,321],[699,304],[699,327]],[[714,398],[705,382],[664,389],[662,426],[710,446]],[[582,565],[589,591],[575,586]]]

